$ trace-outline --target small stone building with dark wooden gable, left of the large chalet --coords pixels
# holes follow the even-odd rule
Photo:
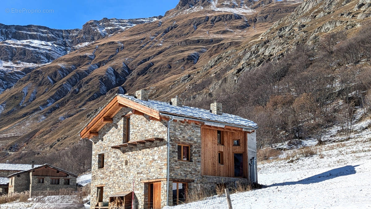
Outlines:
[[[60,189],[76,190],[77,176],[49,164],[10,174],[9,193],[30,191],[30,196],[55,195]]]

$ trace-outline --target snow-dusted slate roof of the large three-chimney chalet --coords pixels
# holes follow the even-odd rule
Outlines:
[[[188,106],[175,106],[170,105],[167,102],[160,102],[156,100],[141,100],[137,99],[134,96],[118,94],[118,96],[124,97],[125,99],[132,100],[138,104],[144,105],[151,109],[157,110],[160,113],[167,113],[170,115],[185,116],[188,118],[209,120],[219,123],[229,123],[239,126],[246,126],[248,128],[257,128],[257,124],[252,120],[242,118],[237,115],[231,115],[228,113],[222,113],[222,115],[216,115],[211,113],[210,110],[200,109],[197,107],[188,107]]]

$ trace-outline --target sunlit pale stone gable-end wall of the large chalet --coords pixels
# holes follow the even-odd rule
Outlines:
[[[99,136],[92,138],[92,207],[96,203],[97,186],[103,186],[103,201],[106,202],[111,194],[132,191],[134,181],[135,202],[138,208],[144,208],[147,205],[148,183],[143,181],[166,178],[167,122],[149,120],[148,116],[131,115],[130,141],[148,138],[164,138],[164,141],[111,148],[122,144],[122,138],[126,135],[126,119],[122,115],[130,111],[129,108],[122,108],[114,116],[113,123],[107,123],[99,131]],[[102,153],[105,155],[104,168],[98,169],[98,154]],[[162,182],[161,188],[166,191],[166,181]],[[166,192],[162,194],[164,198],[161,198],[161,202],[164,206]]]

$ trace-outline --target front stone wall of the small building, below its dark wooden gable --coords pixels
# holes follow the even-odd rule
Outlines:
[[[30,173],[31,174],[31,173]],[[38,183],[38,178],[44,178],[44,183]],[[59,184],[50,184],[50,179],[59,178]],[[70,184],[65,185],[64,179],[69,179]],[[48,177],[48,176],[32,176],[30,175],[30,196],[40,196],[53,194],[50,192],[59,192],[60,189],[76,190],[76,177]]]

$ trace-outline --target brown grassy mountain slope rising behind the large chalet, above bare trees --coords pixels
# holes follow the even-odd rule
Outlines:
[[[280,60],[295,45],[357,30],[370,13],[368,4],[359,3],[246,1],[237,7],[242,13],[226,1],[180,1],[161,20],[99,39],[32,70],[1,93],[3,148],[16,154],[68,147],[115,93],[146,88],[152,99],[180,95],[203,105],[223,83],[253,76],[256,67]]]

